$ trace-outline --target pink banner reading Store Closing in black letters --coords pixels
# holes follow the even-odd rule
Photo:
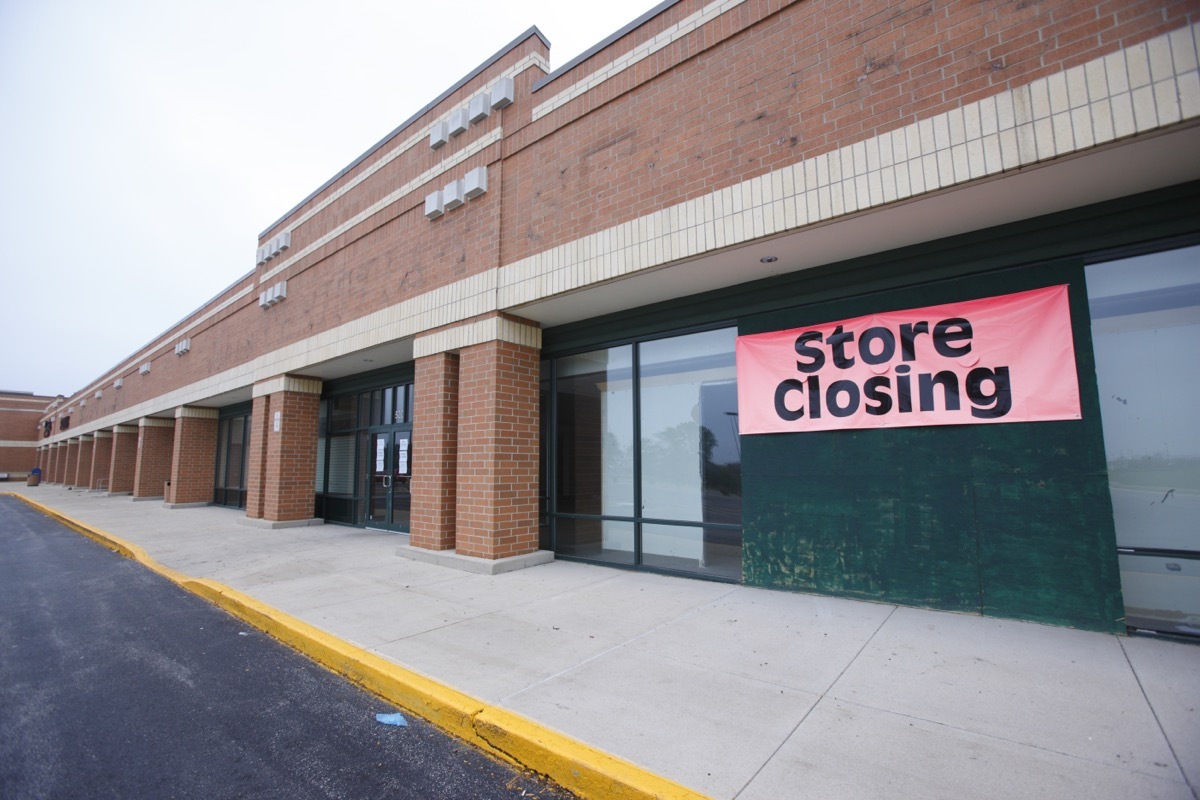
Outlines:
[[[739,336],[738,428],[1078,420],[1067,287]]]

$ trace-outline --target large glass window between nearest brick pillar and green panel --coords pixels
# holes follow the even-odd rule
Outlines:
[[[734,329],[553,362],[554,549],[738,579]]]

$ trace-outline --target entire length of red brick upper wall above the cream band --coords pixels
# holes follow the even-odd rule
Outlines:
[[[300,215],[380,163],[426,120],[461,107],[520,59],[545,54],[536,37],[517,44],[268,236],[292,229],[289,253],[298,253],[503,127],[499,143],[272,276],[265,285],[286,278],[289,297],[269,311],[257,305],[258,290],[265,288],[257,277],[280,261],[258,267],[180,320],[155,347],[114,367],[102,385],[71,398],[72,427],[101,419],[115,422],[112,417],[121,409],[457,278],[1028,83],[1200,16],[1195,0],[746,0],[530,121],[535,104],[703,2],[684,0],[665,10],[533,95],[530,86],[541,76],[538,70],[522,72],[514,106],[493,112],[439,150],[419,143],[296,224]],[[485,196],[434,222],[424,217],[427,192],[481,164],[491,169]],[[248,263],[248,249],[246,258]],[[244,289],[247,296],[184,330]],[[176,356],[174,344],[182,336],[191,337],[192,348]],[[142,362],[152,363],[150,374],[138,374]],[[112,385],[115,377],[124,379],[122,389]]]

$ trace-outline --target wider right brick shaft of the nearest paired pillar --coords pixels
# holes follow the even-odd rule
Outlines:
[[[539,350],[462,348],[456,549],[499,559],[538,549]]]

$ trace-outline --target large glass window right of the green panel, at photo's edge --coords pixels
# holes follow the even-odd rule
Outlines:
[[[1200,634],[1200,247],[1086,275],[1126,618]]]

